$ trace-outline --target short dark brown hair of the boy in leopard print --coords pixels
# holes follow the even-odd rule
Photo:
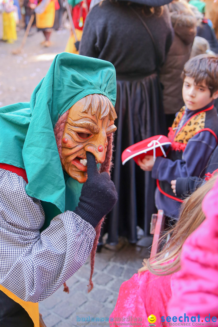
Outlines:
[[[212,96],[218,90],[218,56],[203,54],[189,59],[181,76],[183,81],[186,76],[194,78],[196,85],[205,81]]]

